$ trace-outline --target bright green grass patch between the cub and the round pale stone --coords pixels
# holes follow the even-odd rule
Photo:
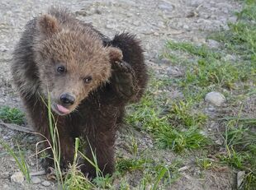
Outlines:
[[[152,76],[149,91],[157,91],[161,84]],[[162,83],[161,81],[160,83]],[[140,130],[150,132],[156,145],[176,152],[197,149],[209,145],[200,127],[206,122],[206,115],[192,113],[190,103],[178,101],[171,104],[168,97],[147,92],[140,104],[130,106],[126,122]]]

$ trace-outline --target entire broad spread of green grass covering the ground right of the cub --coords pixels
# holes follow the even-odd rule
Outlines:
[[[246,1],[237,16],[238,21],[229,24],[230,30],[209,36],[220,42],[219,49],[168,41],[168,50],[163,56],[182,67],[184,76],[165,78],[151,73],[149,90],[140,104],[128,108],[126,122],[149,132],[155,145],[163,149],[181,153],[211,145],[211,137],[206,137],[203,132],[209,118],[201,112],[206,93],[222,92],[235,111],[239,110],[240,101],[255,95],[256,2]],[[183,94],[178,100],[171,100],[164,94],[173,86]],[[246,171],[244,188],[253,189],[256,187],[255,117],[232,118],[227,114],[224,118],[220,122],[226,128],[223,133],[225,154],[220,154],[221,163]],[[201,169],[211,169],[213,164],[205,157],[197,159]]]

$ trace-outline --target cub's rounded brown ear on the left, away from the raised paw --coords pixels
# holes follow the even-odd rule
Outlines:
[[[46,36],[54,35],[59,31],[59,24],[54,16],[43,15],[37,21],[38,30]]]

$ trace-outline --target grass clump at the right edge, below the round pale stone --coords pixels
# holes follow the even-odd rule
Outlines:
[[[228,165],[246,172],[247,189],[256,185],[256,118],[225,118],[228,120],[225,128],[225,155],[220,159]]]

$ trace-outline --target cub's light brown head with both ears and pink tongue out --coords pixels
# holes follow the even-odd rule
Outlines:
[[[50,98],[56,114],[70,114],[92,90],[108,81],[111,63],[121,60],[121,50],[104,47],[89,26],[64,25],[55,16],[40,16],[36,30],[40,94],[45,100]]]

